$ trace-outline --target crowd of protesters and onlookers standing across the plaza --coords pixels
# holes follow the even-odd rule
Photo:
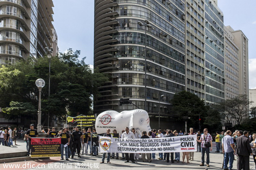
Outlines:
[[[34,129],[34,124],[30,125],[30,129],[28,129],[26,132],[20,131],[20,134],[17,132],[17,128],[14,128],[13,130],[11,127],[8,127],[8,129],[0,128],[0,144],[5,146],[11,146],[12,141],[14,141],[16,145],[16,139],[17,136],[25,134],[24,140],[27,142],[27,151],[28,155],[30,155],[30,149],[31,149],[31,138],[32,137],[38,137],[38,132],[36,129]],[[113,130],[112,134],[115,134],[116,130]],[[106,133],[103,134],[104,137],[113,137],[110,133],[110,129],[107,129]],[[48,137],[54,138],[59,137],[61,138],[61,160],[64,159],[64,150],[65,150],[65,159],[69,160],[68,158],[73,159],[75,154],[77,154],[78,158],[81,158],[80,152],[82,150],[81,155],[92,155],[97,156],[99,154],[99,135],[96,132],[96,129],[93,128],[91,131],[91,128],[82,129],[82,131],[79,130],[78,127],[74,127],[72,130],[69,128],[63,128],[60,131],[55,131],[55,128],[53,127],[52,130],[48,129],[47,132]],[[125,127],[125,129],[122,131],[122,134],[120,134],[119,138],[124,139],[139,139],[139,138],[163,138],[163,137],[174,137],[174,136],[185,136],[185,135],[196,135],[197,136],[197,151],[201,152],[201,164],[199,166],[204,166],[204,163],[206,162],[206,166],[209,167],[210,165],[210,155],[209,153],[212,151],[212,138],[215,138],[216,143],[216,151],[217,153],[223,153],[223,169],[224,170],[232,170],[233,162],[237,159],[237,169],[241,170],[249,170],[249,156],[253,155],[253,160],[255,162],[256,166],[256,134],[249,135],[248,131],[241,131],[236,130],[234,133],[232,133],[230,130],[226,131],[217,131],[216,136],[212,137],[208,133],[208,129],[204,129],[202,133],[200,131],[194,132],[193,128],[189,129],[189,132],[180,132],[178,133],[177,130],[164,130],[162,131],[159,129],[156,131],[156,129],[151,129],[151,131],[146,132],[143,131],[142,134],[138,134],[135,129],[130,129],[128,127]],[[88,153],[88,148],[90,149],[90,152]],[[130,160],[132,163],[135,163],[135,160],[139,160],[139,157],[142,158],[143,162],[151,162],[152,160],[163,160],[166,162],[170,162],[170,156],[171,156],[171,162],[180,162],[180,152],[166,152],[166,153],[159,153],[159,158],[156,158],[156,153],[141,153],[141,156],[139,153],[103,153],[102,160],[100,163],[104,163],[106,154],[107,156],[107,163],[110,163],[110,159],[119,159],[119,156],[125,159],[125,163],[129,162]],[[204,159],[204,156],[206,154],[206,161]],[[116,158],[115,158],[116,155]],[[147,156],[147,159],[146,159]],[[185,161],[186,159],[186,161]],[[187,163],[189,164],[189,161],[194,160],[194,152],[182,152],[182,162],[181,163]]]

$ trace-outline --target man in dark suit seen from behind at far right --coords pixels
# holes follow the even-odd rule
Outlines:
[[[243,135],[236,139],[236,154],[237,159],[237,170],[249,170],[249,158],[252,155],[252,149],[250,146],[250,140],[248,138],[248,131],[244,131]]]

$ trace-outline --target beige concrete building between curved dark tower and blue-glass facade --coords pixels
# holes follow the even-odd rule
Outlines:
[[[205,98],[204,1],[186,0],[186,90]]]

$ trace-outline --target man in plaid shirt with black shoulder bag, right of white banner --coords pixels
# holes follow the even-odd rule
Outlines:
[[[199,166],[204,166],[204,153],[206,152],[206,166],[210,167],[209,153],[212,151],[212,136],[208,133],[208,129],[204,129],[204,133],[201,135],[200,140],[197,140],[197,142],[201,142],[202,148],[202,163]]]

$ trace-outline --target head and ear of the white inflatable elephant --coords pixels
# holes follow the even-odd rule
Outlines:
[[[129,129],[132,130],[132,128],[134,128],[139,135],[141,135],[143,131],[151,131],[148,112],[142,109],[136,109],[132,111],[133,113],[130,118]]]

